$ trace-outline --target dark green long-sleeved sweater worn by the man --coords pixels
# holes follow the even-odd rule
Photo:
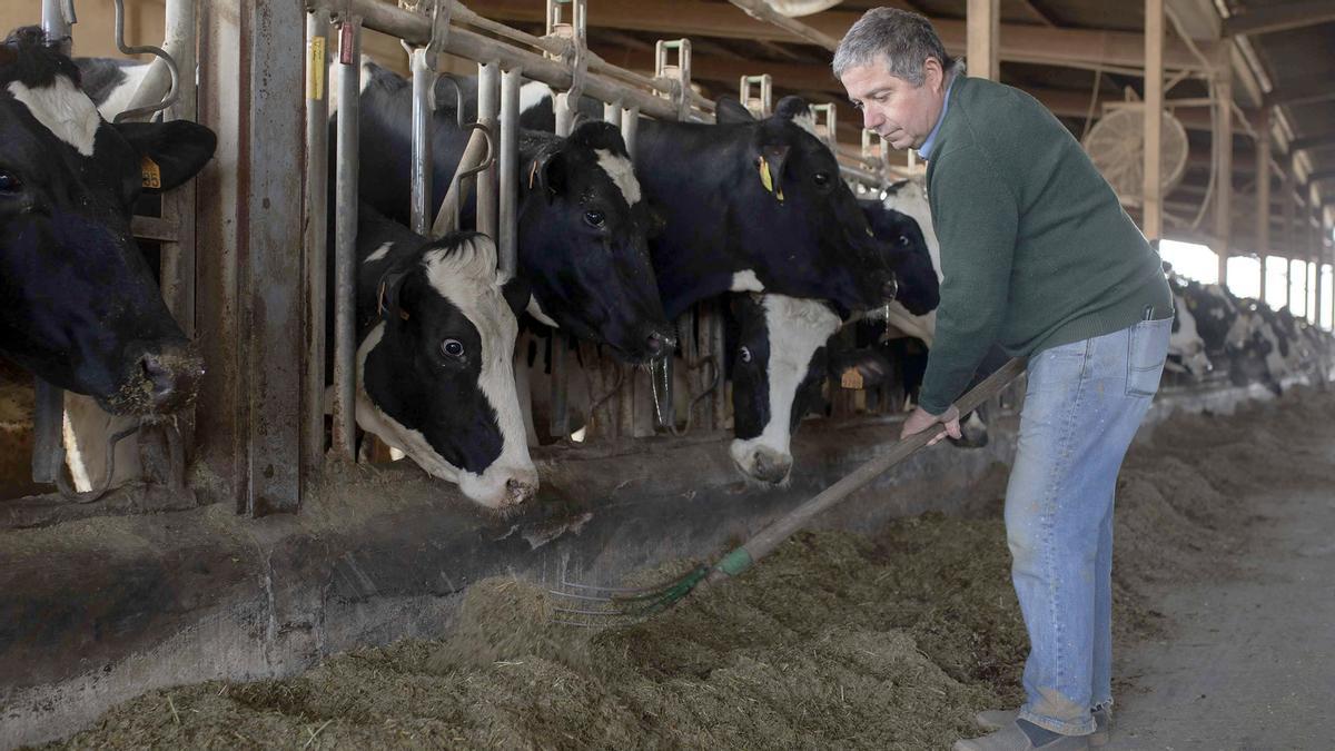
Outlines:
[[[940,414],[993,342],[1012,357],[1172,315],[1159,254],[1032,96],[961,78],[926,167],[941,305],[920,404]]]

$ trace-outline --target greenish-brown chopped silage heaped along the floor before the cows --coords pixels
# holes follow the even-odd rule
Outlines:
[[[1330,477],[1331,457],[1295,454],[1291,430],[1335,433],[1332,418],[1335,400],[1304,392],[1169,420],[1132,450],[1115,533],[1120,643],[1161,625],[1147,584],[1224,571],[1258,521],[1247,493]],[[531,584],[482,581],[443,641],[348,652],[284,680],[152,691],[67,744],[947,748],[977,735],[979,710],[1020,700],[1027,639],[1001,492],[996,477],[980,484],[980,518],[798,535],[736,581],[602,632],[553,623]]]

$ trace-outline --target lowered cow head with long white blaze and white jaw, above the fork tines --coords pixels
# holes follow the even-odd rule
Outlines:
[[[511,365],[527,294],[507,282],[486,235],[426,242],[380,277],[358,351],[362,428],[498,510],[538,489]]]

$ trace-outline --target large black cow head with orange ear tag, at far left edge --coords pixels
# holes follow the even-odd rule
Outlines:
[[[188,180],[215,142],[195,123],[107,123],[40,29],[13,32],[0,45],[0,350],[108,412],[192,400],[202,361],[129,218],[142,191]]]

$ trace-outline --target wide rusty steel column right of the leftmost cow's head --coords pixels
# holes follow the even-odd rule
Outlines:
[[[238,510],[300,502],[302,175],[306,13],[300,0],[202,9],[200,122],[219,148],[200,176],[200,452]]]

